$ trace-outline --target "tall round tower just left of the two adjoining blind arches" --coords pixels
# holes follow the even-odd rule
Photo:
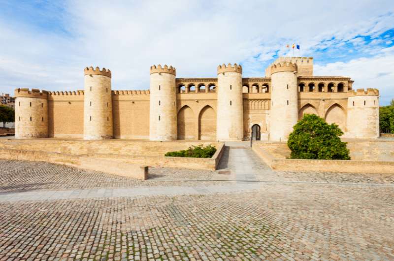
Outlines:
[[[150,140],[177,139],[175,75],[172,66],[150,68]]]

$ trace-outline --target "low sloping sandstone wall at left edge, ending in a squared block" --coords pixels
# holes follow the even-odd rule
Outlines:
[[[56,163],[137,179],[148,178],[147,166],[64,153],[0,149],[0,159]]]

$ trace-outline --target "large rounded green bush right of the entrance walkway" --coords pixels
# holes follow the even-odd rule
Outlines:
[[[336,124],[328,124],[315,114],[305,114],[293,127],[287,145],[291,159],[350,160],[343,134]]]

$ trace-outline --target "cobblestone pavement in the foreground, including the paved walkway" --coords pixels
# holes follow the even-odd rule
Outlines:
[[[394,260],[390,175],[275,172],[242,147],[221,168],[0,161],[0,260]]]

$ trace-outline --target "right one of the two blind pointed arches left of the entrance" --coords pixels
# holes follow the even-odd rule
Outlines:
[[[216,139],[216,112],[209,105],[203,107],[198,114],[198,139]]]

